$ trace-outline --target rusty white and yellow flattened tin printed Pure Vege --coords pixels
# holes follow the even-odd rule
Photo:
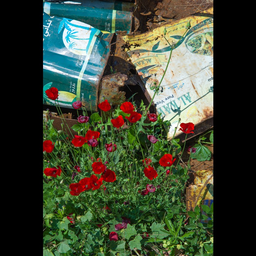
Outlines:
[[[181,39],[188,22],[191,28]],[[164,30],[171,46],[181,39],[172,50],[165,75],[171,46],[164,38]],[[122,39],[151,98],[164,75],[154,104],[164,120],[171,122],[168,139],[173,137],[179,118],[196,127],[213,117],[213,8]],[[175,136],[181,133],[177,129]]]

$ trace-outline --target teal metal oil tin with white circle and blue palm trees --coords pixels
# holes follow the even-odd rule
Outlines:
[[[45,91],[59,90],[58,102],[73,108],[82,105],[97,111],[98,86],[103,75],[113,34],[69,18],[43,12],[43,104],[55,105]]]

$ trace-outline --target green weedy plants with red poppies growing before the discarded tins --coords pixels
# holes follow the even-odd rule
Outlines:
[[[61,115],[58,89],[46,94]],[[53,120],[43,122],[44,256],[213,255],[213,204],[187,217],[185,197],[190,159],[209,159],[208,138],[188,149],[181,165],[186,139],[167,140],[171,123],[150,113],[150,105],[103,100],[88,115],[76,101],[82,114],[71,127],[74,137]],[[180,120],[177,129],[187,138],[194,124]]]

